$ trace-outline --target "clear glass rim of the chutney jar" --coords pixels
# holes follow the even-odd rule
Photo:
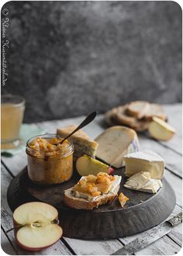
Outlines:
[[[58,135],[57,133],[43,133],[43,134],[40,134],[40,135],[36,135],[36,136],[33,136],[33,137],[30,137],[29,140],[27,140],[26,142],[26,150],[33,150],[34,152],[39,152],[40,150],[36,150],[36,149],[33,149],[31,147],[29,147],[29,143],[33,140],[33,139],[36,139],[36,138],[43,138],[43,139],[52,139],[54,137],[57,137],[58,139],[63,139],[63,137],[60,137],[60,135]],[[63,144],[65,147],[61,148],[60,150],[57,150],[57,152],[61,153],[63,150],[66,150],[67,148],[69,149],[70,147],[73,147],[73,143],[71,142],[70,139],[67,139],[68,143],[69,144]]]

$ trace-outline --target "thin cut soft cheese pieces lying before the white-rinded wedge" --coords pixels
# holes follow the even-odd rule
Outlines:
[[[124,187],[142,192],[156,193],[161,189],[162,182],[159,179],[150,178],[149,172],[140,171],[128,178]]]

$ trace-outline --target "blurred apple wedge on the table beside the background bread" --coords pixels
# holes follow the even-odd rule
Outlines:
[[[175,133],[173,127],[155,116],[153,121],[150,122],[148,130],[150,135],[157,140],[170,140]]]

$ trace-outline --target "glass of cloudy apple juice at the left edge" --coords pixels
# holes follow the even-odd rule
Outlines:
[[[1,97],[1,147],[16,148],[20,144],[19,132],[22,125],[25,99],[16,95]]]

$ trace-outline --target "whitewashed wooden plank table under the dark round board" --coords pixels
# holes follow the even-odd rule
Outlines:
[[[140,145],[142,149],[150,149],[164,157],[166,162],[165,178],[171,184],[176,195],[176,206],[171,216],[181,211],[181,157],[182,157],[182,140],[181,140],[181,104],[174,104],[171,106],[164,106],[167,112],[169,123],[177,130],[174,138],[168,142],[158,142],[151,140],[147,134],[139,134]],[[43,123],[31,124],[32,126],[39,126],[49,133],[55,133],[57,127],[66,126],[68,124],[79,124],[84,116],[72,119],[47,121]],[[105,129],[102,123],[102,116],[90,125],[85,127],[86,133],[93,139],[98,136]],[[2,248],[8,254],[30,254],[28,251],[23,251],[16,245],[13,232],[6,233],[12,227],[12,211],[6,199],[6,192],[12,178],[19,174],[19,171],[26,166],[26,153],[17,154],[13,157],[2,157]],[[165,235],[160,240],[150,244],[148,247],[136,254],[175,254],[181,249],[182,237],[181,225],[175,227],[171,233]],[[123,237],[114,240],[76,240],[67,237],[62,237],[57,244],[40,252],[31,254],[42,255],[60,255],[60,254],[112,254],[120,247],[123,247],[129,241],[138,237]]]

